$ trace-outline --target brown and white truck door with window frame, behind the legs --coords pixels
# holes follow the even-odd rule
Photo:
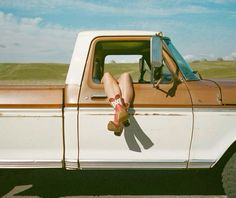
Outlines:
[[[79,97],[81,168],[185,168],[192,135],[192,104],[166,50],[158,88],[150,83],[150,37],[100,37],[93,41]],[[130,126],[120,136],[107,130],[114,110],[101,73],[129,72],[134,102]]]

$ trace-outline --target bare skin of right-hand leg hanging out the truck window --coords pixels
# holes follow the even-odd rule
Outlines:
[[[124,102],[130,105],[134,97],[134,89],[132,78],[129,73],[123,73],[118,79],[119,87],[121,90],[122,98]]]

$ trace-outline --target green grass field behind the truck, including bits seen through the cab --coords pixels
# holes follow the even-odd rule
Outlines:
[[[190,65],[203,78],[236,80],[236,61],[201,61]],[[126,71],[130,70],[127,67],[122,68]],[[119,67],[115,67],[114,73],[123,72],[119,70]],[[0,84],[64,84],[67,71],[68,64],[0,63]],[[138,69],[135,73],[137,72]]]

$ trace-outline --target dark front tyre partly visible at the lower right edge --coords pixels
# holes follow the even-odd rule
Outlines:
[[[222,173],[222,183],[228,197],[236,197],[236,153],[226,163]]]

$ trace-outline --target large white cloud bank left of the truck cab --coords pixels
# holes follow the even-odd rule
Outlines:
[[[0,12],[0,62],[69,62],[78,31]]]

